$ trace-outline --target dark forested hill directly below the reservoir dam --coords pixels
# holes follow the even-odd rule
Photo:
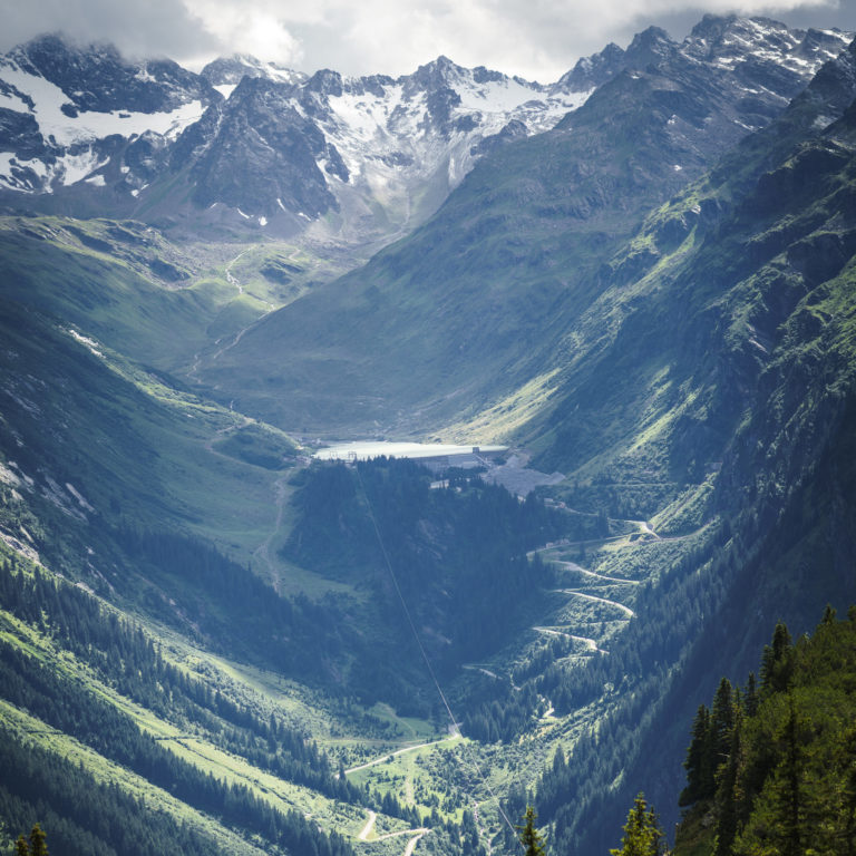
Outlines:
[[[421,643],[438,674],[454,677],[525,625],[549,578],[527,551],[567,525],[537,498],[521,502],[475,476],[432,489],[431,474],[411,460],[315,464],[298,478],[284,555],[371,593],[366,623],[385,632],[372,631],[374,655],[354,664],[354,689],[359,677],[367,701],[386,697],[415,713],[425,714],[434,691],[401,600],[416,626],[431,629]],[[390,646],[393,670],[377,654]]]

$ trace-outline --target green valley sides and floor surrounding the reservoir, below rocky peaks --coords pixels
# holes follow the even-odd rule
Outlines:
[[[502,799],[595,854],[669,805],[716,677],[856,601],[849,61],[696,183],[689,90],[624,75],[328,285],[296,247],[4,221],[8,840],[126,852],[103,806],[150,852],[498,854]],[[243,409],[506,430],[568,477],[305,466]]]

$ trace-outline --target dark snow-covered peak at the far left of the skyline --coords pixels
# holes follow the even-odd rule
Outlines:
[[[110,160],[107,140],[155,135],[168,143],[218,97],[171,60],[132,64],[110,46],[33,39],[0,56],[0,187],[103,185],[95,173]]]

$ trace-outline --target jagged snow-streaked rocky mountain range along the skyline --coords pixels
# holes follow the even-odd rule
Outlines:
[[[651,28],[551,85],[445,57],[412,75],[307,77],[252,57],[200,75],[51,36],[0,58],[0,200],[185,227],[390,240],[429,216],[486,154],[548,130],[620,74],[693,64],[766,124],[846,42],[837,31],[706,18],[683,42]],[[23,201],[22,194],[27,195]],[[319,223],[319,221],[322,221]]]

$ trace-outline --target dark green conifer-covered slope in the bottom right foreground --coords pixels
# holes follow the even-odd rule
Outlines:
[[[796,643],[777,624],[759,678],[696,714],[675,854],[856,853],[856,607]]]

